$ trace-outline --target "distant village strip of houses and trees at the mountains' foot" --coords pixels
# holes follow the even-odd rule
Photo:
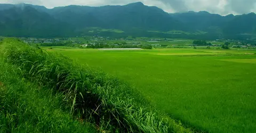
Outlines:
[[[171,39],[171,38],[148,38],[148,37],[126,37],[126,38],[110,38],[110,37],[74,37],[74,38],[19,38],[27,44],[50,44],[46,46],[53,46],[57,43],[69,43],[72,46],[80,46],[86,48],[87,46],[95,46],[97,44],[111,45],[113,47],[123,45],[141,45],[148,44],[153,47],[181,47],[181,46],[195,46],[192,40],[187,39]],[[223,43],[229,42],[230,48],[256,48],[256,42],[249,40],[230,40],[230,39],[216,39],[209,41],[211,47],[220,47]],[[52,45],[51,45],[52,44]],[[44,46],[44,45],[43,45]],[[197,46],[202,47],[202,46]],[[182,48],[182,47],[181,47]]]

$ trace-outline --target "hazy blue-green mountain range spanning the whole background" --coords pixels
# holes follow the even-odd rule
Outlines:
[[[0,4],[0,35],[18,37],[148,36],[246,39],[256,35],[256,14],[166,13],[141,2],[124,6]]]

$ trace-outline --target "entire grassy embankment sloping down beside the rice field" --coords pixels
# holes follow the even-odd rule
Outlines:
[[[3,132],[190,132],[108,74],[15,39],[2,46]]]

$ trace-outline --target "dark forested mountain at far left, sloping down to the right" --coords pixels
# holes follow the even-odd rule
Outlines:
[[[51,15],[31,6],[14,6],[0,11],[1,36],[67,36],[72,29],[69,27],[69,24],[55,20]]]

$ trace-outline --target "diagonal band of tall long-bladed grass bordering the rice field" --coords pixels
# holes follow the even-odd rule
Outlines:
[[[70,114],[89,118],[102,130],[189,132],[114,77],[18,40],[5,40],[5,45],[6,61],[16,65],[26,79],[65,95],[63,103]]]

